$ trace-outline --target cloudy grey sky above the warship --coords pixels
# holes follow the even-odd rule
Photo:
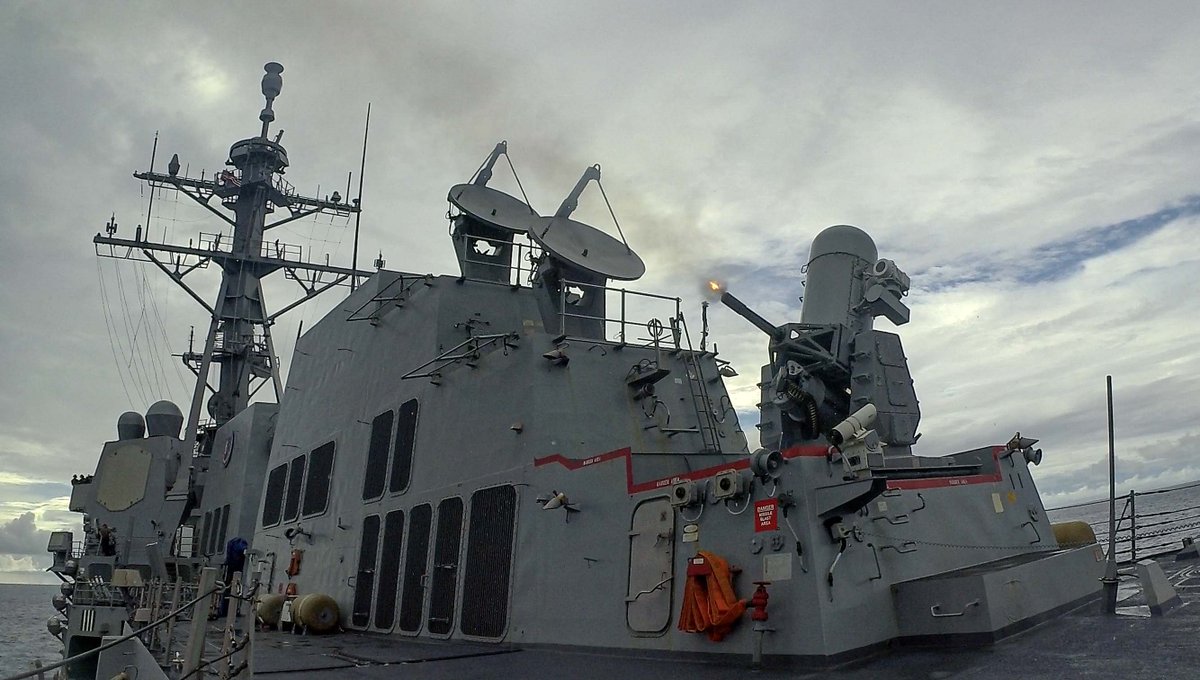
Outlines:
[[[500,139],[551,213],[583,169],[692,325],[716,277],[798,320],[829,224],[870,233],[912,277],[900,329],[917,452],[1040,439],[1048,506],[1200,479],[1200,7],[1194,2],[24,2],[0,4],[0,582],[46,578],[48,531],[79,530],[125,410],[190,389],[172,353],[199,307],[150,265],[91,243],[146,224],[132,177],[179,154],[211,176],[258,133],[262,66],[283,64],[272,130],[301,192],[344,192],[371,106],[359,264],[457,273],[445,192]],[[492,186],[518,193],[500,166]],[[354,193],[354,192],[352,192]],[[595,188],[576,218],[616,233]],[[155,197],[151,240],[218,223]],[[280,237],[349,264],[353,224]],[[190,279],[209,297],[210,271]],[[300,293],[272,281],[280,308]],[[336,295],[336,294],[326,294]],[[299,323],[275,329],[289,363]],[[710,309],[756,422],[766,338]],[[883,319],[881,330],[895,330]],[[696,332],[694,329],[692,332]],[[200,344],[200,341],[197,341]],[[265,392],[264,392],[265,393]],[[751,435],[752,440],[752,435]],[[751,441],[754,445],[754,441]]]

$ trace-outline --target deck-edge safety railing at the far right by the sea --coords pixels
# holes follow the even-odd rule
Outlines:
[[[1196,504],[1200,482],[1138,492],[1118,497],[1121,503],[1116,519],[1116,554],[1121,564],[1152,559],[1174,553],[1182,546],[1181,540],[1200,534],[1200,504]],[[1139,500],[1140,499],[1140,500]],[[1092,526],[1096,540],[1105,544],[1109,538],[1108,500],[1078,503],[1048,510],[1056,519],[1082,516]]]

